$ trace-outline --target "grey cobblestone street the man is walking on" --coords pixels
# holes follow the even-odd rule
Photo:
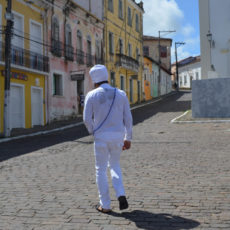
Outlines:
[[[230,123],[172,124],[178,93],[133,110],[121,156],[129,209],[97,212],[93,139],[79,126],[0,144],[1,230],[230,229]],[[111,185],[111,181],[110,181]]]

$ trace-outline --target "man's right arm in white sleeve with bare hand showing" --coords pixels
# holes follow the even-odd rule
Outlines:
[[[127,97],[125,97],[125,104],[124,104],[124,125],[125,125],[125,140],[124,140],[123,150],[129,149],[131,146],[132,128],[133,128],[133,118],[132,118],[129,101]]]

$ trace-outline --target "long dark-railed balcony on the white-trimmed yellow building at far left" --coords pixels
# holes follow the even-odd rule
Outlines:
[[[0,61],[5,61],[5,44],[0,42]],[[42,54],[11,45],[11,64],[38,71],[49,71],[49,58]]]

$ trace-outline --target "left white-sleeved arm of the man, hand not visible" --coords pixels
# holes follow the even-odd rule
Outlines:
[[[83,121],[90,134],[93,133],[93,104],[90,97],[85,98],[85,106],[83,111]]]

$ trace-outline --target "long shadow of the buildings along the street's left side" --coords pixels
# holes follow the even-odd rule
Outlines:
[[[142,122],[154,116],[158,112],[178,112],[190,109],[191,101],[177,100],[184,94],[186,93],[178,92],[174,95],[163,98],[163,100],[159,102],[133,110],[133,124],[136,125],[139,122]],[[60,143],[77,141],[78,139],[86,137],[88,135],[89,134],[85,126],[80,125],[74,128],[69,128],[50,134],[44,134],[34,137],[25,137],[18,140],[3,142],[0,143],[0,162]]]

